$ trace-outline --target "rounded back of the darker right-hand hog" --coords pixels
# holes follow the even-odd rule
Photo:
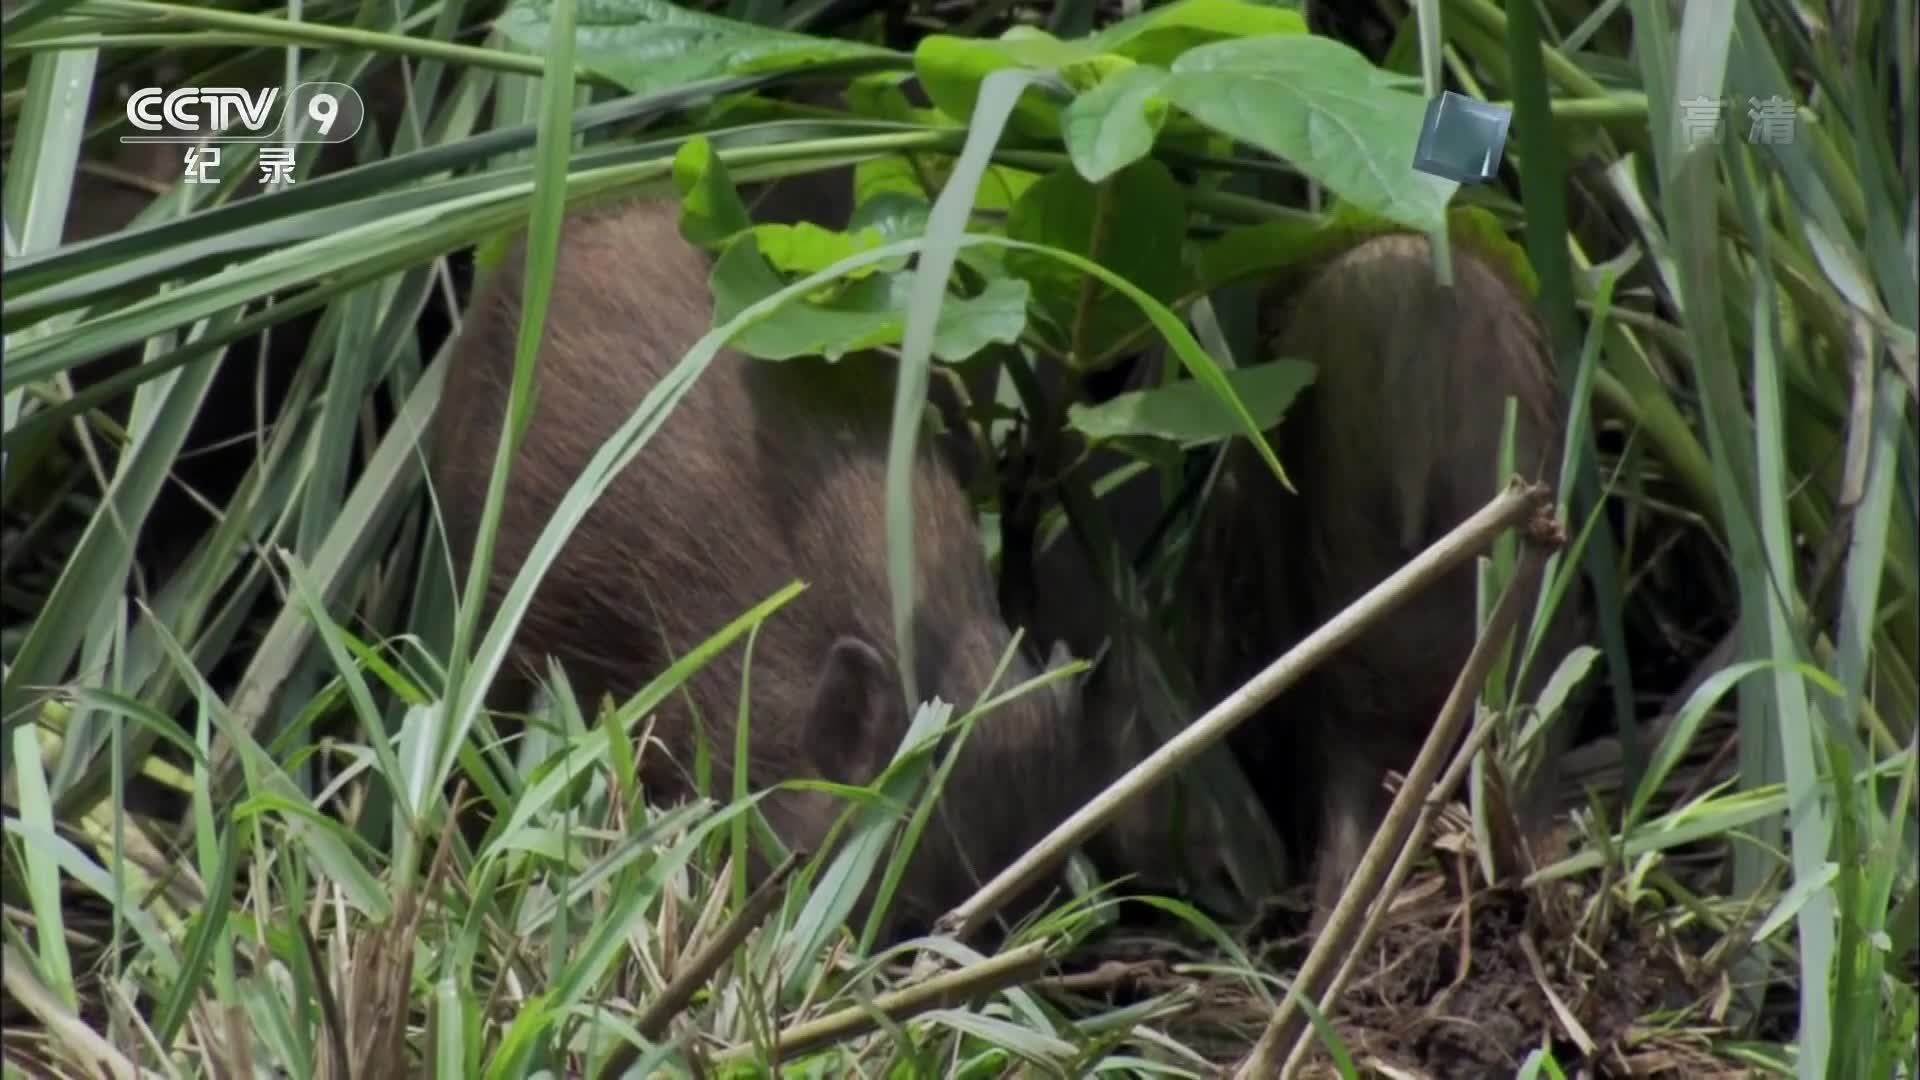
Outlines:
[[[1500,444],[1515,398],[1515,471],[1557,482],[1561,425],[1530,302],[1471,248],[1452,288],[1423,236],[1352,248],[1290,300],[1275,352],[1317,365],[1308,407],[1283,425],[1300,498],[1288,513],[1313,621],[1419,555],[1505,482]],[[1419,749],[1473,648],[1475,569],[1461,567],[1327,665],[1350,738],[1384,761]],[[1371,748],[1369,748],[1371,751]]]

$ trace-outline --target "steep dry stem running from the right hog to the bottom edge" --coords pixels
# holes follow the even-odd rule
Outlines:
[[[1534,540],[1532,532],[1523,530],[1523,536]],[[1359,861],[1359,869],[1354,871],[1354,880],[1348,882],[1342,894],[1342,901],[1329,915],[1327,926],[1313,942],[1313,949],[1308,951],[1306,963],[1300,965],[1300,974],[1294,976],[1294,994],[1281,999],[1279,1009],[1273,1011],[1273,1019],[1267,1022],[1267,1030],[1261,1032],[1260,1042],[1254,1045],[1254,1053],[1240,1067],[1240,1080],[1273,1076],[1275,1072],[1290,1076],[1300,1068],[1309,1045],[1309,1030],[1306,1011],[1298,1007],[1294,995],[1298,994],[1313,1001],[1321,1015],[1329,1015],[1334,1001],[1338,1001],[1356,957],[1367,949],[1369,940],[1380,926],[1380,919],[1386,915],[1388,897],[1405,880],[1415,853],[1423,847],[1427,830],[1432,826],[1432,819],[1446,805],[1446,790],[1442,784],[1436,784],[1442,778],[1440,769],[1448,761],[1452,748],[1459,746],[1461,728],[1473,715],[1480,688],[1494,669],[1500,650],[1513,634],[1513,626],[1519,623],[1521,607],[1526,600],[1526,584],[1540,577],[1544,565],[1546,548],[1540,542],[1528,542],[1521,548],[1521,563],[1515,575],[1507,578],[1507,586],[1500,594],[1500,603],[1494,605],[1494,613],[1486,621],[1486,630],[1475,642],[1473,651],[1467,655],[1467,665],[1453,680],[1453,690],[1448,694],[1440,717],[1427,734],[1419,757],[1413,759],[1405,782],[1394,794],[1386,821],[1375,830],[1373,840],[1367,844],[1367,853]],[[1482,719],[1476,724],[1475,738],[1459,746],[1455,765],[1473,761],[1471,753],[1478,751],[1488,730],[1492,730],[1490,719]],[[1448,769],[1446,780],[1457,784],[1461,774],[1465,774],[1465,769]],[[1275,1070],[1273,1063],[1281,1057],[1283,1049],[1286,1065]]]

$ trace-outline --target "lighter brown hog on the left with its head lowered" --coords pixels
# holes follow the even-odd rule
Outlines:
[[[564,223],[490,607],[588,459],[710,327],[707,271],[680,236],[672,204]],[[436,417],[432,475],[461,567],[472,555],[513,377],[522,275],[524,254],[515,252],[476,290]],[[891,382],[887,361],[768,363],[722,352],[549,567],[520,623],[516,663],[501,675],[507,692],[524,692],[522,669],[553,655],[582,701],[630,696],[801,578],[808,588],[753,644],[749,784],[876,776],[908,724],[883,532]],[[1012,634],[970,507],[933,450],[916,465],[914,525],[918,692],[964,711]],[[653,730],[662,746],[641,755],[653,798],[691,794],[701,736],[714,767],[708,790],[732,790],[743,661],[743,646],[726,650],[685,696],[660,705]],[[996,690],[1035,675],[1016,653]],[[1098,794],[1152,749],[1142,730],[1085,717],[1060,684],[981,717],[899,886],[895,930],[966,899]],[[806,849],[841,813],[818,792],[774,792],[760,807],[789,847]]]

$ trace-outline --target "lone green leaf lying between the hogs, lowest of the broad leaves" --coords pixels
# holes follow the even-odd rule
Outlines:
[[[1313,365],[1271,359],[1225,373],[1233,392],[1261,429],[1271,429],[1309,382]],[[1183,446],[1242,434],[1240,419],[1219,396],[1192,379],[1152,390],[1129,390],[1098,405],[1071,405],[1068,425],[1092,440],[1165,438]]]

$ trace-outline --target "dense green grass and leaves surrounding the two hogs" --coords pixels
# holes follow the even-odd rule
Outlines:
[[[1204,1076],[1296,1036],[1329,1074],[1920,1070],[1914,0],[1382,0],[1323,4],[1327,33],[1252,0],[497,8],[6,8],[10,1076]],[[300,146],[290,184],[257,183],[259,146],[184,184],[179,146],[119,142],[129,88],[303,81],[361,86],[369,121]],[[1440,88],[1511,104],[1501,181],[1407,169]],[[845,233],[755,227],[735,194],[849,165]],[[1281,1017],[1309,944],[1260,909],[1283,882],[1223,755],[1188,782],[1242,896],[1158,897],[1142,928],[1091,888],[995,945],[879,951],[843,922],[918,828],[883,799],[755,897],[745,792],[647,805],[634,734],[705,653],[628,701],[557,678],[503,748],[480,688],[518,611],[457,601],[419,432],[472,263],[526,227],[541,281],[564,208],[634,194],[680,198],[716,252],[687,375],[728,342],[883,348],[912,421],[943,365],[1094,373],[1164,342],[1181,380],[1048,417],[1142,467],[1284,423],[1311,377],[1261,356],[1248,284],[1390,229],[1498,252],[1576,417],[1546,571],[1599,613],[1536,703],[1578,724],[1559,701],[1597,692],[1565,851],[1488,886],[1486,767],[1526,769],[1501,728],[1352,992],[1309,980],[1309,1026]],[[660,452],[660,405],[530,571]],[[981,492],[991,552],[1021,494]],[[1041,530],[1098,536],[1089,496]],[[908,515],[887,525],[910,565]],[[1121,609],[1179,605],[1181,542],[1114,575]],[[1501,540],[1488,607],[1530,565]],[[1152,665],[1167,732],[1215,705]],[[939,774],[910,749],[877,786],[920,805]],[[478,842],[457,796],[493,807]]]

